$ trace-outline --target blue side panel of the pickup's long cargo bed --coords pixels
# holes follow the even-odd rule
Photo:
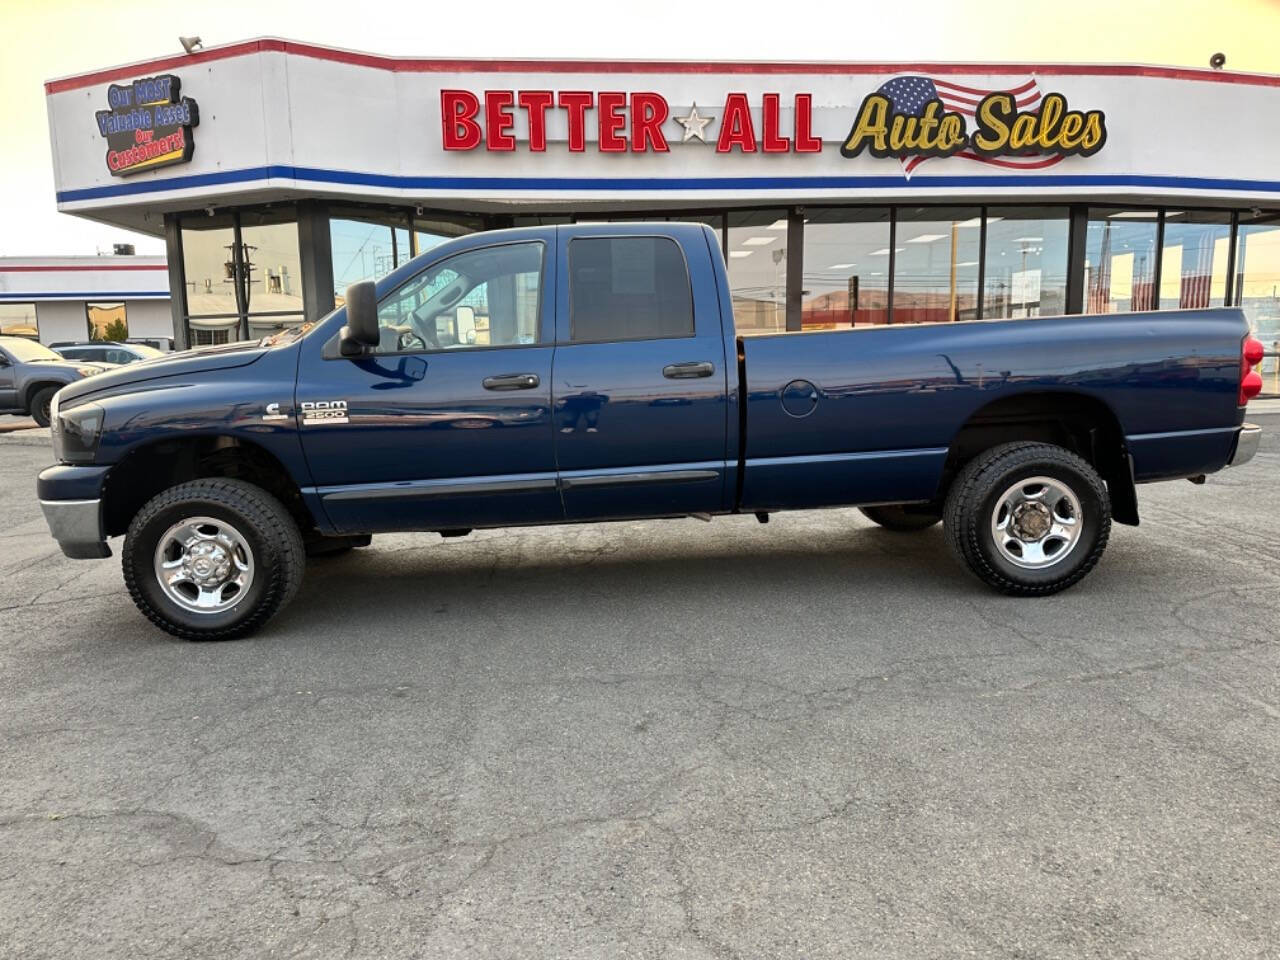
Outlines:
[[[1065,394],[1112,419],[1139,483],[1217,470],[1245,330],[1216,308],[739,338],[740,506],[929,500],[965,425]]]

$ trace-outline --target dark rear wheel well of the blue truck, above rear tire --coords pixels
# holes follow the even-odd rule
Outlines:
[[[1114,520],[1138,525],[1133,460],[1120,419],[1105,401],[1079,390],[1030,390],[975,410],[951,438],[940,498],[965,463],[1015,440],[1053,443],[1084,458],[1106,481]]]

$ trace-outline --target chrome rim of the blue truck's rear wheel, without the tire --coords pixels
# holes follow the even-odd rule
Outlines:
[[[1025,570],[1051,567],[1080,541],[1084,512],[1062,481],[1048,476],[1019,480],[996,500],[991,535],[1010,563]]]

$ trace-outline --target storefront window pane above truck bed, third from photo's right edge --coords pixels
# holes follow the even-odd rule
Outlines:
[[[1089,210],[1084,312],[1151,310],[1156,279],[1155,210]]]

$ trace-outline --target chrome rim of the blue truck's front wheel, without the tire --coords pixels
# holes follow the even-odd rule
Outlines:
[[[191,517],[156,544],[155,573],[165,596],[193,613],[221,613],[253,582],[253,552],[224,520]]]

